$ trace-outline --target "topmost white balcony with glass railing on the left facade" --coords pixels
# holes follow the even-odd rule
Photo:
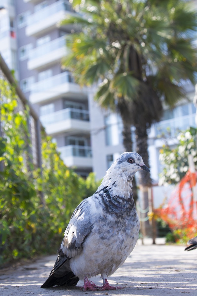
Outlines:
[[[74,11],[72,10],[69,1],[66,0],[59,0],[47,7],[44,7],[43,9],[40,9],[28,16],[26,35],[37,36],[40,33],[47,33],[51,29],[56,28],[57,24],[61,22],[68,13],[72,14]]]

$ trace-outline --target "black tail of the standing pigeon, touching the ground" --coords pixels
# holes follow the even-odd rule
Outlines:
[[[53,286],[76,286],[79,278],[71,271],[69,258],[60,250],[55,265],[41,288]]]

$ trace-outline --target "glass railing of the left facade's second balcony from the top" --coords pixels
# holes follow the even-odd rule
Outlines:
[[[53,41],[47,42],[43,45],[40,45],[29,52],[29,59],[35,59],[42,57],[45,54],[48,54],[56,49],[64,48],[66,45],[65,37],[62,36]]]

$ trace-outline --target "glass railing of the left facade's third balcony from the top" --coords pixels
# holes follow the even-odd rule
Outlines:
[[[55,76],[49,77],[47,79],[33,83],[31,85],[31,92],[36,93],[46,91],[66,82],[74,83],[74,78],[71,76],[69,72],[63,72]]]

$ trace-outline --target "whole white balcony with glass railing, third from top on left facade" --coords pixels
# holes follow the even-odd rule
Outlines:
[[[50,78],[38,81],[31,85],[30,102],[32,104],[47,102],[50,99],[56,99],[64,95],[70,97],[76,94],[82,99],[86,98],[87,90],[74,83],[69,72],[63,72]]]

